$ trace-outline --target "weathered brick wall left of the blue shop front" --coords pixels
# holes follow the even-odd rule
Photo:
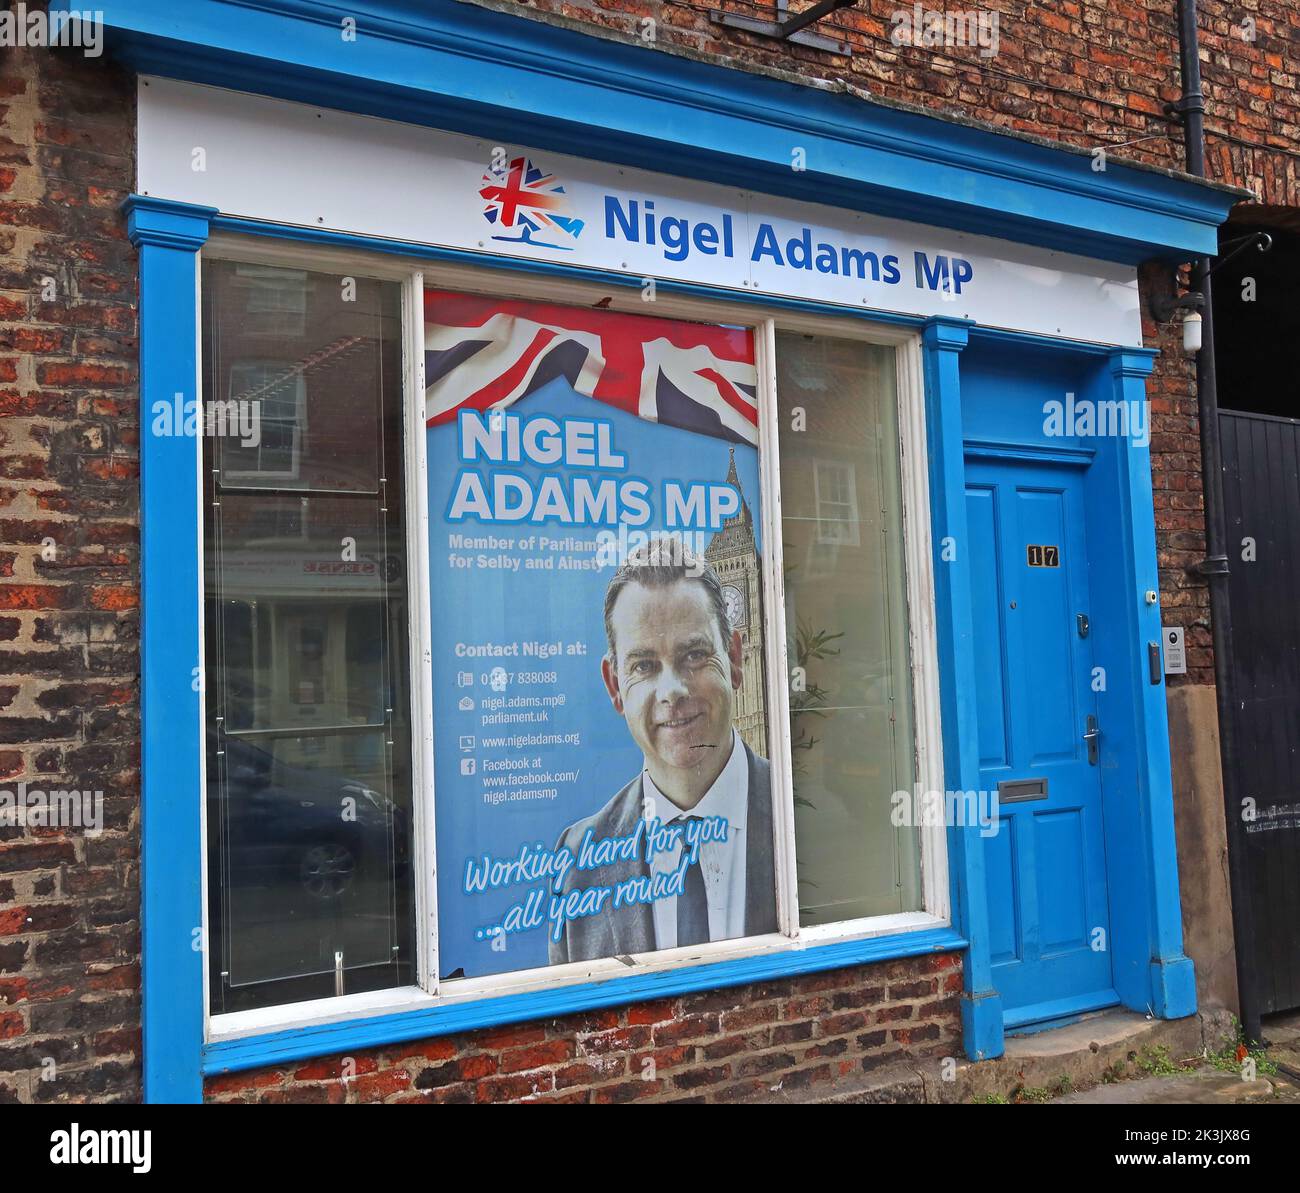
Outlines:
[[[139,1097],[134,84],[0,52],[0,1102]]]

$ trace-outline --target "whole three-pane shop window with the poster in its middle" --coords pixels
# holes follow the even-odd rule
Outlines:
[[[900,350],[426,290],[417,541],[402,287],[283,274],[203,274],[213,1010],[919,927]]]

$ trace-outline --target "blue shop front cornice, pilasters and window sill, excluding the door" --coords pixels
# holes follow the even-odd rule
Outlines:
[[[75,6],[56,0],[53,9]],[[1136,263],[1213,253],[1236,200],[1226,188],[667,53],[611,43],[469,5],[358,0],[361,36],[347,44],[334,18],[299,0],[108,0],[109,44],[143,73],[278,95],[374,116],[524,140],[604,161],[668,169],[772,194],[902,214]],[[347,86],[339,86],[339,79]],[[536,97],[521,116],[502,95]],[[790,147],[809,169],[788,168]],[[906,153],[900,147],[906,146]],[[473,255],[233,220],[208,208],[131,196],[127,226],[140,253],[142,412],[198,399],[196,255],[209,230],[398,252],[426,260]],[[495,263],[502,265],[502,263]],[[510,268],[510,266],[502,266]],[[550,270],[555,266],[521,264]],[[559,272],[556,269],[556,272]],[[581,272],[573,272],[582,276]],[[593,277],[586,272],[588,277]],[[608,285],[638,279],[604,276]],[[679,292],[706,292],[660,283]],[[818,311],[915,327],[922,334],[935,541],[936,624],[945,782],[979,788],[970,551],[965,509],[963,386],[989,344],[1083,365],[1083,390],[1135,400],[1152,355],[884,312],[725,294],[729,300]],[[142,422],[146,417],[142,416]],[[562,990],[287,1031],[205,1045],[202,967],[202,742],[199,452],[196,438],[142,435],[142,721],[144,1092],[199,1101],[205,1072],[252,1068],[382,1042],[567,1014],[884,958],[962,949],[962,1023],[968,1057],[1002,1050],[1002,1007],[991,969],[985,859],[978,827],[949,829],[953,927],[850,941],[777,956],[592,982]],[[1115,988],[1126,1006],[1175,1018],[1195,1010],[1182,955],[1164,685],[1145,684],[1145,643],[1158,641],[1149,459],[1131,443],[1098,455],[1088,500],[1113,516],[1114,577],[1096,616],[1122,629],[1104,660],[1124,677],[1106,693],[1108,724],[1127,751],[1131,781],[1108,801]],[[949,545],[954,551],[945,550]],[[963,695],[966,693],[967,695]],[[1114,804],[1114,815],[1112,815]]]

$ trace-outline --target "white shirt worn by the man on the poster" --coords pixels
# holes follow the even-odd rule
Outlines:
[[[722,816],[727,821],[725,841],[705,841],[699,846],[699,866],[705,876],[705,897],[708,901],[708,938],[727,941],[745,934],[745,828],[749,820],[749,760],[740,734],[732,729],[732,752],[727,765],[705,791],[705,798],[684,812],[663,794],[645,771],[641,776],[641,794],[646,811],[659,817],[660,824],[684,821],[688,816]],[[684,841],[672,849],[655,854],[650,863],[653,873],[671,875],[681,864]],[[655,899],[655,947],[677,946],[677,897]]]

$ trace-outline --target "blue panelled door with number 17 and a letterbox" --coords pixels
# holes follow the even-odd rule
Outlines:
[[[1008,1028],[1119,1001],[1101,821],[1082,468],[968,459],[993,982]]]

